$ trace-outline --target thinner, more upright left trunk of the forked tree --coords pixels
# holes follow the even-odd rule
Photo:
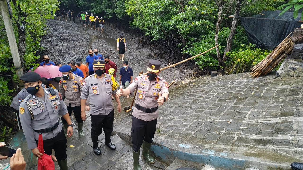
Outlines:
[[[219,30],[221,29],[221,23],[222,23],[222,11],[223,11],[223,6],[225,4],[225,2],[223,0],[219,0],[218,2],[216,2],[219,10],[218,10],[218,20],[217,20],[217,24],[216,24],[216,32],[215,32],[215,44],[219,45],[218,42],[218,35],[219,35]],[[219,62],[219,66],[220,67],[224,67],[224,61],[221,58],[221,54],[220,54],[220,49],[219,47],[216,47],[216,51],[217,51],[217,57],[218,57],[218,62]]]

